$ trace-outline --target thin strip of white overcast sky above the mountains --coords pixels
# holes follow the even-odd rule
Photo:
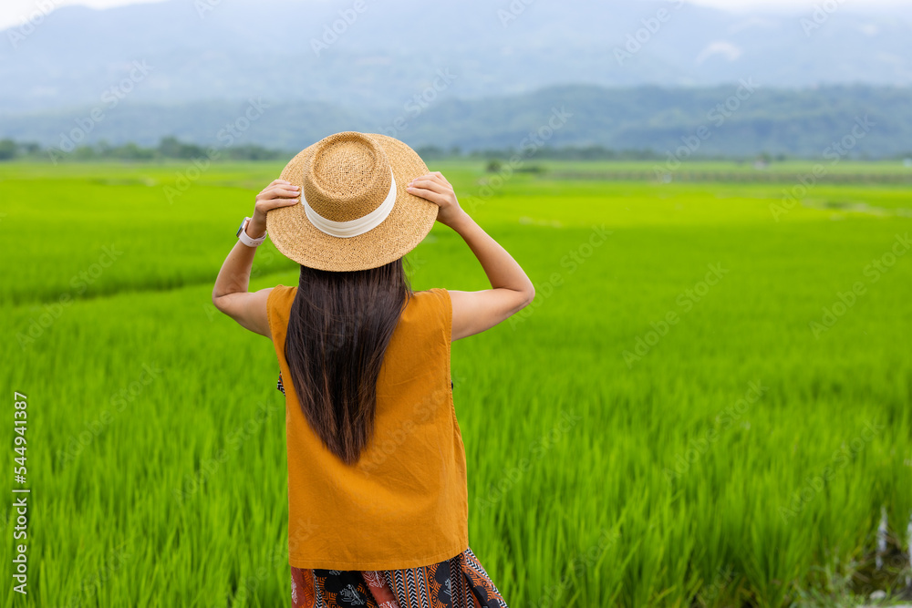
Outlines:
[[[64,5],[87,5],[96,8],[108,6],[133,5],[143,1],[150,0],[0,0],[0,28],[16,26],[25,21],[29,15],[36,15],[40,11],[40,6],[64,6]],[[155,0],[151,0],[155,1]],[[192,0],[186,0],[192,2]],[[796,8],[814,8],[814,5],[820,4],[823,0],[689,0],[693,4],[716,6],[718,8],[728,8],[741,10],[754,7],[764,8],[785,8],[795,10]],[[912,0],[840,0],[844,6],[878,7],[887,8],[889,6],[902,5],[912,6]],[[503,4],[509,4],[503,0]],[[47,12],[47,8],[44,9]]]

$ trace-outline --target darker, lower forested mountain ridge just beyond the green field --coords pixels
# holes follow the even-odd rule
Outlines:
[[[543,144],[554,147],[601,145],[663,155],[689,146],[700,155],[765,151],[820,158],[845,149],[840,158],[912,156],[912,88],[755,88],[747,79],[714,88],[559,86],[522,95],[443,99],[424,108],[414,101],[376,109],[254,98],[130,104],[107,110],[98,121],[91,118],[95,109],[0,116],[0,134],[63,151],[101,139],[149,146],[162,135],[215,149],[259,144],[296,150],[338,131],[360,130],[386,133],[415,148],[523,149],[530,134],[539,133]],[[689,149],[679,156],[689,155]]]

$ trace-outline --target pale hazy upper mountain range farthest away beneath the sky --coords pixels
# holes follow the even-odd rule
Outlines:
[[[912,85],[908,10],[836,5],[819,15],[729,13],[678,0],[65,6],[5,30],[0,112],[91,106],[106,93],[124,107],[260,97],[395,111],[429,88],[442,100],[748,77],[766,88]],[[441,71],[451,82],[440,84]]]

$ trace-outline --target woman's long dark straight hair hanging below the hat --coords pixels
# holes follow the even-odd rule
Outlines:
[[[341,273],[301,266],[285,360],[307,422],[347,464],[373,432],[380,365],[410,296],[401,258]]]

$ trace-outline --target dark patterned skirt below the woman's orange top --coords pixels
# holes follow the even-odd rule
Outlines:
[[[481,562],[466,549],[444,562],[361,572],[291,567],[294,608],[507,608]]]

